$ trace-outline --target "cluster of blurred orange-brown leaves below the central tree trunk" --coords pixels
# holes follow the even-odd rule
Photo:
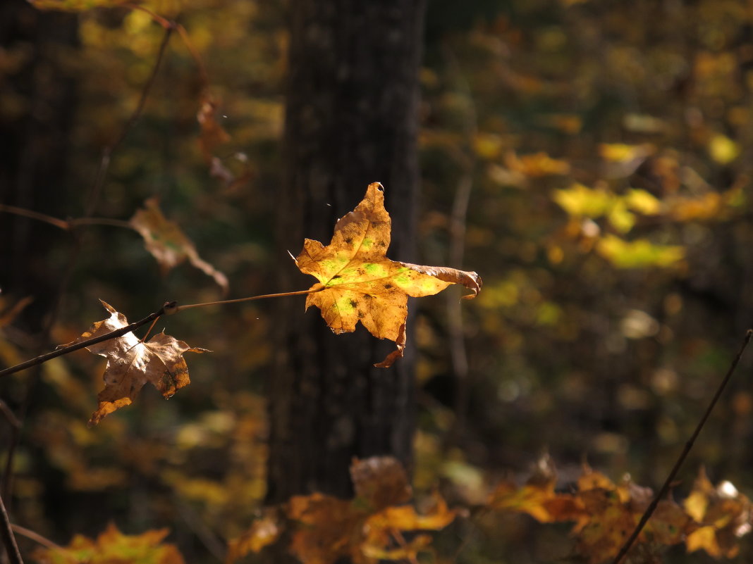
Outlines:
[[[349,559],[354,564],[377,564],[382,560],[416,562],[419,552],[431,543],[428,535],[409,542],[403,533],[443,529],[457,511],[434,493],[431,508],[419,513],[412,505],[404,468],[389,456],[355,460],[350,469],[356,498],[339,499],[322,493],[293,496],[282,507],[287,517],[267,514],[240,538],[230,541],[226,564],[279,538],[288,527],[288,550],[303,564],[334,564]],[[275,511],[275,510],[272,510]]]

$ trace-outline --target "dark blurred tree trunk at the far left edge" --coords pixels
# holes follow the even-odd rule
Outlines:
[[[76,81],[66,59],[78,44],[73,14],[40,12],[25,0],[0,2],[0,203],[66,217],[64,178]],[[37,333],[50,314],[59,273],[50,250],[60,229],[0,213],[0,290],[12,303],[24,296],[20,326]],[[6,305],[11,305],[6,303]]]

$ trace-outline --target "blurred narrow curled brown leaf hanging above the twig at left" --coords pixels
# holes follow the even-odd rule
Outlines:
[[[227,293],[227,277],[199,256],[191,239],[187,238],[175,222],[163,215],[156,198],[146,200],[144,208],[136,211],[130,224],[144,238],[146,250],[157,259],[163,273],[188,259],[204,274],[211,276],[222,291]]]

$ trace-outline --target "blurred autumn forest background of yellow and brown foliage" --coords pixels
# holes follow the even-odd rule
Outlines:
[[[305,290],[303,275],[290,288],[270,275],[294,268],[273,224],[285,169],[285,4],[145,6],[187,30],[212,98],[174,35],[93,216],[127,222],[157,196],[230,280],[231,296]],[[149,14],[128,8],[0,8],[0,204],[61,220],[88,213],[102,148],[138,106],[163,37]],[[459,293],[413,305],[416,494],[439,485],[451,505],[481,503],[544,451],[561,484],[587,460],[615,481],[627,473],[656,489],[751,324],[753,11],[712,0],[437,0],[423,49],[419,257],[478,271],[484,288],[460,314]],[[23,151],[19,132],[30,143]],[[44,190],[24,199],[10,179],[31,171],[43,171]],[[166,299],[223,296],[191,265],[161,269],[131,229],[70,235],[2,214],[3,365],[37,352],[78,238],[84,250],[50,343],[101,319],[99,298],[137,319]],[[315,315],[303,313],[303,298],[288,299],[300,300],[301,319]],[[172,318],[172,335],[213,351],[191,359],[191,386],[170,402],[144,390],[93,428],[95,356],[46,363],[31,401],[28,374],[0,382],[3,402],[23,417],[4,474],[14,521],[61,544],[96,536],[108,520],[134,534],[167,526],[190,562],[222,556],[265,496],[269,335],[300,323],[275,312],[259,302]],[[680,493],[700,465],[714,482],[753,491],[751,360],[741,366]],[[8,422],[3,460],[17,438]],[[549,561],[569,542],[567,527],[520,515],[453,527],[437,550],[463,562]]]

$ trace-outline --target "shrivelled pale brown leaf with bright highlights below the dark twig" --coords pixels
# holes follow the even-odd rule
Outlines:
[[[69,344],[99,337],[128,325],[126,316],[106,302],[102,302],[102,305],[110,312],[110,317],[93,323],[87,332]],[[96,425],[102,417],[130,405],[147,382],[151,382],[164,397],[172,397],[177,390],[191,383],[183,354],[210,352],[189,347],[184,341],[178,341],[164,332],[154,335],[147,342],[140,341],[130,332],[93,344],[87,350],[107,359],[102,376],[105,389],[97,396],[99,407],[92,414],[90,425]]]

